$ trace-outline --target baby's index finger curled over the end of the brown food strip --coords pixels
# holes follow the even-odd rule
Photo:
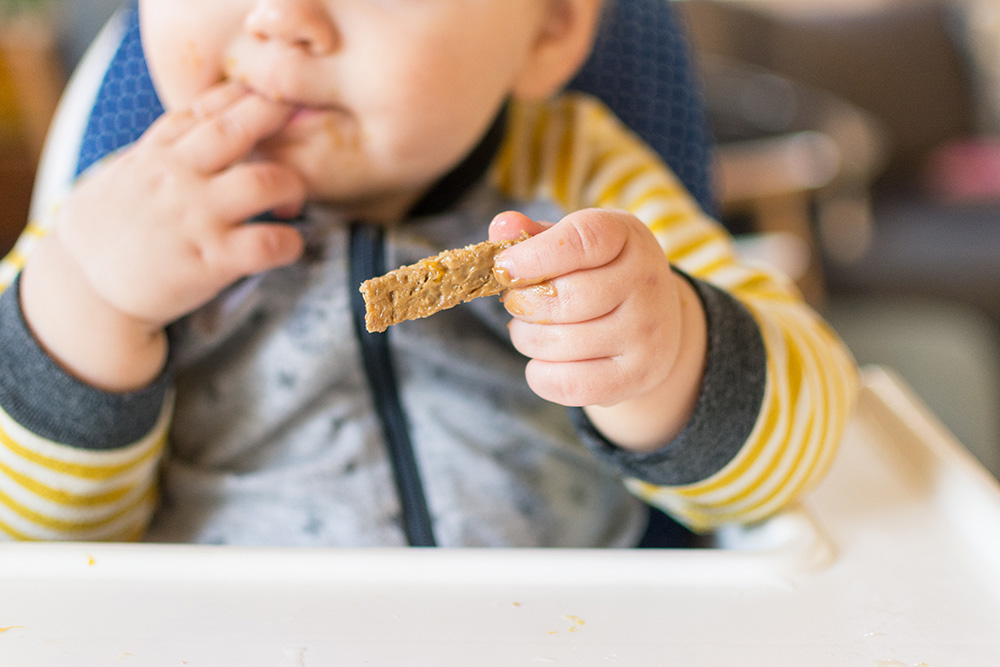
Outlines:
[[[544,234],[497,255],[499,277],[511,286],[530,285],[608,264],[625,247],[626,215],[599,209],[571,213]]]

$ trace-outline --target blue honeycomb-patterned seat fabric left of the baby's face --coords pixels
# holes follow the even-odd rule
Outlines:
[[[138,7],[132,3],[122,11],[126,13],[125,32],[90,111],[80,144],[77,175],[105,155],[134,142],[163,113],[142,51]]]

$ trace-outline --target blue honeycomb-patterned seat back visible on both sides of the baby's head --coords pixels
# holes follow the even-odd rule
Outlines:
[[[669,0],[614,0],[597,48],[571,88],[603,100],[673,168],[709,212],[711,140],[689,45]],[[135,141],[163,113],[142,52],[138,10],[101,83],[77,173]]]

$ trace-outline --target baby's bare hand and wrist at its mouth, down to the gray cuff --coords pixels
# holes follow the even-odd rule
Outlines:
[[[250,159],[292,113],[219,84],[85,175],[21,278],[25,319],[49,355],[96,387],[142,387],[166,359],[166,324],[242,276],[294,261],[295,229],[244,223],[305,200],[291,168]]]

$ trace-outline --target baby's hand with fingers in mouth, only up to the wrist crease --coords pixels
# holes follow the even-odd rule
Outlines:
[[[244,224],[304,201],[291,168],[247,160],[291,114],[238,84],[213,87],[85,176],[60,211],[56,238],[97,294],[156,327],[238,278],[294,261],[302,240],[292,227]]]

